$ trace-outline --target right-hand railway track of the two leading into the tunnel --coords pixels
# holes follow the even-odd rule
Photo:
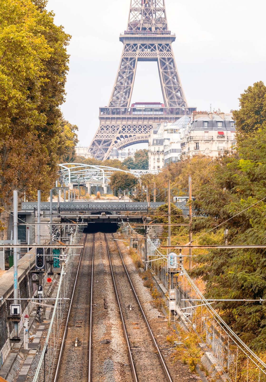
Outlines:
[[[128,344],[129,358],[132,359],[133,380],[134,382],[147,382],[147,380],[149,382],[172,382],[161,351],[127,272],[119,247],[115,240],[112,241],[115,243],[115,250],[110,254],[105,235],[123,331]]]

